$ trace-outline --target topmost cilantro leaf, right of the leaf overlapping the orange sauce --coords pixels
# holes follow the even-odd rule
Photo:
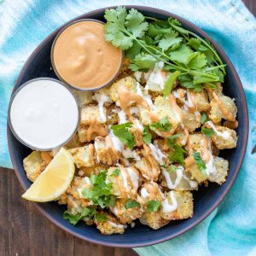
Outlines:
[[[137,9],[131,9],[126,16],[125,26],[127,31],[131,32],[134,37],[142,38],[148,29],[148,22],[144,21],[145,17]]]

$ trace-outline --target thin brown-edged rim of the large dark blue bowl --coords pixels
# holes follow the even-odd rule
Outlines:
[[[109,6],[109,7],[105,7],[105,8],[102,8],[102,9],[95,9],[95,10],[92,10],[90,12],[84,13],[83,15],[79,15],[79,16],[75,17],[73,20],[67,21],[67,23],[65,23],[64,25],[57,28],[54,32],[50,33],[49,36],[44,38],[44,40],[38,45],[38,47],[36,49],[34,49],[32,54],[27,59],[25,65],[22,67],[22,69],[20,71],[20,74],[19,74],[19,77],[16,80],[15,87],[14,87],[14,90],[12,91],[12,94],[19,87],[20,80],[21,80],[22,76],[24,75],[24,73],[26,72],[26,68],[30,64],[34,55],[37,55],[38,50],[41,49],[44,46],[45,42],[48,41],[49,39],[52,39],[55,34],[57,34],[59,31],[61,31],[62,27],[67,26],[68,23],[70,23],[74,20],[83,19],[84,15],[100,15],[102,12],[105,11],[105,9],[115,9],[118,6],[120,6],[120,5]],[[245,119],[244,133],[246,134],[246,136],[245,136],[245,140],[241,144],[240,159],[239,159],[239,162],[238,162],[237,166],[234,167],[235,172],[234,172],[233,177],[231,177],[231,179],[230,179],[230,183],[225,188],[225,190],[222,192],[222,195],[220,195],[218,197],[218,200],[214,204],[212,204],[212,207],[210,207],[207,210],[207,212],[202,214],[193,223],[191,223],[191,224],[187,225],[186,227],[184,227],[183,229],[177,231],[175,234],[166,235],[166,236],[160,237],[158,239],[154,239],[154,241],[146,241],[146,242],[137,241],[137,242],[133,242],[133,243],[129,243],[129,244],[118,243],[118,242],[115,242],[115,241],[111,241],[111,242],[110,241],[99,241],[97,239],[92,239],[90,237],[84,237],[76,231],[69,230],[67,228],[67,226],[65,226],[64,224],[61,224],[58,221],[56,221],[55,218],[53,218],[51,216],[51,214],[49,214],[46,210],[44,210],[44,208],[41,207],[38,203],[32,202],[32,203],[34,203],[34,205],[36,207],[38,207],[38,210],[40,212],[42,212],[44,214],[44,216],[46,218],[48,218],[53,224],[60,227],[62,230],[67,231],[68,233],[72,234],[73,236],[81,238],[84,241],[90,241],[90,242],[94,242],[96,244],[100,244],[100,245],[108,246],[108,247],[145,247],[145,246],[150,246],[150,245],[154,245],[154,244],[157,244],[157,243],[160,243],[160,242],[163,242],[163,241],[170,240],[174,237],[182,235],[183,233],[185,233],[188,230],[191,230],[193,227],[195,227],[195,225],[200,224],[201,221],[203,221],[205,218],[207,218],[207,216],[209,216],[215,210],[215,208],[218,207],[220,202],[223,201],[224,196],[227,195],[227,193],[230,191],[230,188],[232,187],[233,183],[236,180],[236,177],[237,177],[237,175],[238,175],[238,173],[241,169],[242,161],[243,161],[244,156],[246,154],[247,140],[248,140],[248,110],[247,110],[246,96],[245,96],[245,93],[244,93],[244,90],[243,90],[243,87],[242,87],[242,84],[241,84],[241,80],[240,80],[238,74],[236,73],[235,67],[233,66],[232,62],[230,61],[230,58],[225,54],[224,49],[222,49],[210,36],[208,36],[206,32],[201,30],[201,28],[199,28],[198,26],[195,26],[189,20],[186,20],[186,19],[180,17],[179,15],[172,14],[171,12],[168,12],[168,11],[163,10],[163,9],[156,9],[156,8],[143,6],[143,5],[121,5],[121,6],[124,6],[126,9],[133,8],[133,9],[142,10],[142,11],[151,11],[151,12],[154,12],[154,13],[160,14],[160,15],[172,16],[173,18],[175,18],[177,20],[180,20],[183,24],[186,24],[187,26],[193,28],[195,30],[195,32],[200,33],[202,37],[207,38],[211,42],[211,44],[214,46],[214,48],[218,50],[218,53],[220,53],[220,55],[223,56],[224,61],[226,62],[226,64],[229,65],[231,73],[234,75],[234,77],[237,81],[237,84],[238,84],[237,89],[240,92],[241,102],[243,102],[243,105],[244,105],[243,106],[244,108],[241,109],[241,111],[242,111],[242,114],[243,114],[244,119]],[[12,151],[11,138],[10,138],[11,137],[11,131],[9,129],[9,126],[8,126],[8,129],[7,129],[7,135],[8,135],[9,153],[10,153],[10,157],[11,157],[14,169],[15,169],[15,174],[18,177],[22,188],[26,189],[26,184],[23,182],[23,179],[20,175],[20,172],[18,171],[18,167],[17,167],[16,160],[15,160],[15,155],[14,155],[14,152]]]

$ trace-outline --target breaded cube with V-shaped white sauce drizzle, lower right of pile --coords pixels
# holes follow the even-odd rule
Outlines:
[[[198,183],[191,180],[189,172],[185,172],[183,166],[161,167],[162,186],[175,190],[194,190],[198,188]]]

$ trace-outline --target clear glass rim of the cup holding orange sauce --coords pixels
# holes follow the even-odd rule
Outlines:
[[[58,39],[61,37],[61,34],[70,26],[73,26],[74,24],[77,24],[79,22],[88,22],[88,21],[92,21],[92,22],[97,22],[100,23],[102,25],[105,25],[106,23],[103,22],[102,20],[96,20],[96,19],[79,19],[79,20],[70,20],[70,22],[68,21],[66,23],[66,25],[64,25],[61,30],[57,33],[57,35],[55,36],[55,39],[51,45],[51,49],[50,49],[50,62],[51,62],[51,66],[56,74],[56,76],[58,77],[58,79],[60,79],[64,84],[67,84],[68,86],[70,86],[71,88],[75,89],[75,90],[81,90],[81,91],[95,91],[95,90],[101,90],[105,87],[107,87],[108,85],[110,85],[111,83],[113,83],[114,79],[116,79],[119,76],[119,73],[122,70],[123,64],[124,64],[124,59],[125,59],[125,54],[122,51],[121,53],[121,60],[120,60],[120,65],[119,68],[117,70],[117,72],[113,75],[113,77],[108,80],[108,82],[106,82],[105,84],[101,84],[101,86],[96,87],[96,88],[83,88],[83,87],[79,87],[76,86],[75,84],[70,84],[68,83],[65,79],[63,79],[61,77],[61,74],[58,72],[57,67],[55,66],[55,58],[54,58],[54,51],[55,51],[55,44],[57,43]],[[54,33],[54,32],[53,32]],[[51,35],[51,34],[50,34]],[[47,38],[45,38],[44,40],[46,40]]]

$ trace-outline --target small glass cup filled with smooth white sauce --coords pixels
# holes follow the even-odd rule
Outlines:
[[[15,91],[9,103],[9,126],[20,143],[50,150],[67,143],[79,125],[73,92],[56,79],[32,79]]]

